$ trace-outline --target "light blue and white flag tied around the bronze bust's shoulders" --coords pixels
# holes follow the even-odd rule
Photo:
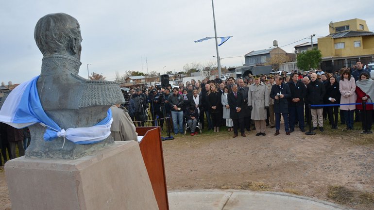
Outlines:
[[[67,138],[75,144],[94,144],[110,135],[112,112],[95,126],[89,128],[61,129],[43,110],[36,88],[39,76],[18,85],[8,95],[0,110],[0,122],[21,129],[40,123],[47,127],[44,140],[51,141],[57,137]]]

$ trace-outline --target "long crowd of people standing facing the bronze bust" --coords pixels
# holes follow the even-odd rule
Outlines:
[[[168,129],[175,135],[184,133],[186,124],[190,135],[196,135],[198,123],[213,132],[226,127],[234,138],[239,132],[245,137],[245,130],[265,136],[266,127],[275,128],[274,135],[279,135],[282,118],[286,135],[295,126],[305,132],[309,123],[312,130],[323,132],[326,120],[331,129],[338,129],[339,116],[345,129],[354,129],[354,122],[361,121],[361,133],[372,133],[373,105],[362,106],[374,97],[370,71],[357,61],[334,73],[317,69],[225,81],[216,76],[214,80],[180,82],[179,87],[136,88],[129,93],[129,113],[137,126],[150,120],[153,126],[164,128],[165,120],[171,119]]]

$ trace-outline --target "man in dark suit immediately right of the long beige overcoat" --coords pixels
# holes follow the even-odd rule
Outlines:
[[[272,86],[270,97],[274,99],[274,113],[275,113],[275,133],[279,135],[280,129],[280,114],[282,113],[285,121],[286,135],[289,135],[289,108],[288,98],[291,97],[291,91],[289,85],[283,82],[281,76],[275,77],[275,84]]]

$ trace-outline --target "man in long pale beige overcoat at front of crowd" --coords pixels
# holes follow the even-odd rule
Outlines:
[[[251,110],[251,119],[255,121],[256,136],[265,136],[266,109],[269,108],[269,89],[260,81],[260,76],[254,77],[255,82],[249,86],[248,106]]]

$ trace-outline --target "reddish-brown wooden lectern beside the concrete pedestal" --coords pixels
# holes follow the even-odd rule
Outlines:
[[[140,151],[151,180],[158,208],[169,210],[160,127],[136,127],[136,132],[139,136],[143,136],[139,143]]]

